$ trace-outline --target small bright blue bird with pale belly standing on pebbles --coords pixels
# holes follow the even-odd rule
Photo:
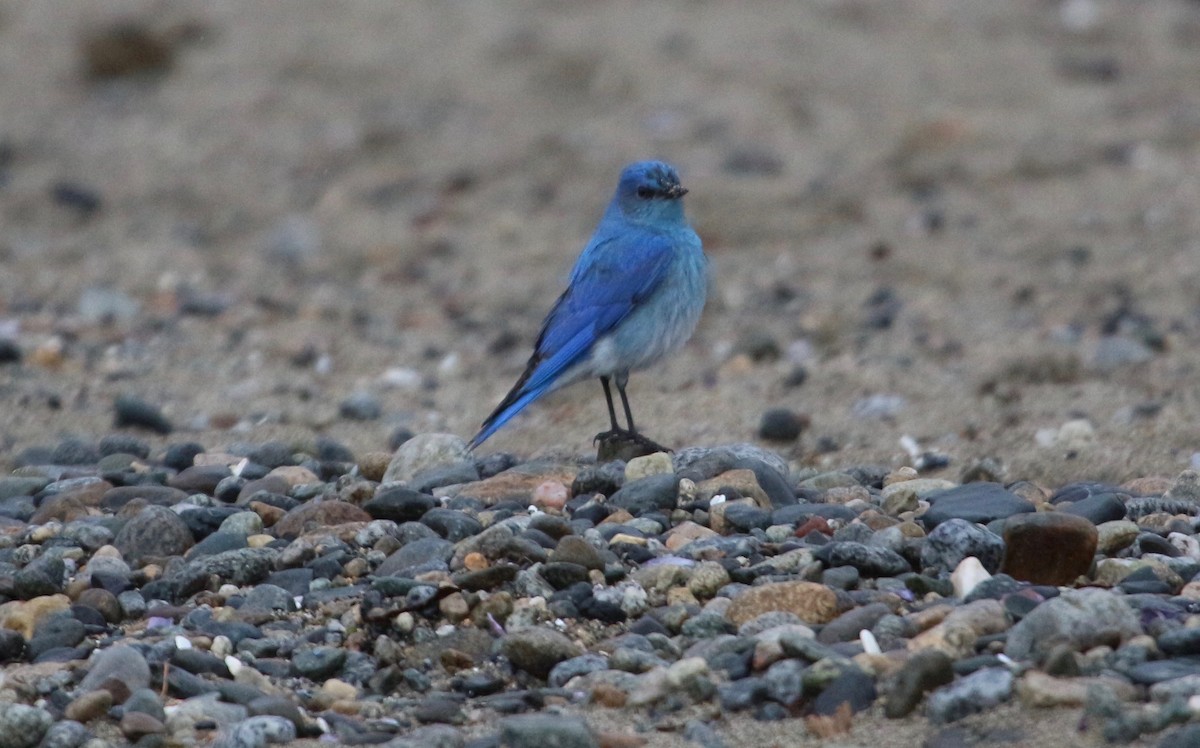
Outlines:
[[[474,449],[548,391],[598,377],[611,430],[596,441],[625,439],[643,451],[664,449],[637,432],[625,396],[629,372],[676,351],[696,329],[708,291],[708,262],[683,214],[674,168],[640,161],[620,173],[617,192],[554,303],[524,373],[470,439]],[[628,429],[617,423],[617,385]]]

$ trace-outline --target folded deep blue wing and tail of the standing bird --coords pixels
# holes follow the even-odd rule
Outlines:
[[[674,253],[667,238],[628,227],[601,237],[583,250],[570,285],[542,323],[524,373],[484,421],[472,449],[546,394],[662,282]]]

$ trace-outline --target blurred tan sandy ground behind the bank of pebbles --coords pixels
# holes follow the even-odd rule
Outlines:
[[[658,441],[786,407],[797,463],[904,463],[908,435],[950,477],[1174,475],[1200,451],[1198,44],[1184,0],[6,2],[0,467],[109,432],[122,393],[209,447],[467,437],[617,172],[662,157],[713,291],[634,377]],[[162,70],[104,77],[130,47]],[[340,417],[356,391],[383,418]],[[582,454],[605,420],[578,385],[488,448]]]

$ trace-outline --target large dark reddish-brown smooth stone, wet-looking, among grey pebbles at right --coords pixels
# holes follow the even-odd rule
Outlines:
[[[1001,570],[1034,585],[1067,586],[1087,574],[1099,533],[1081,516],[1039,511],[1004,522]]]

